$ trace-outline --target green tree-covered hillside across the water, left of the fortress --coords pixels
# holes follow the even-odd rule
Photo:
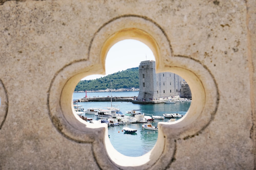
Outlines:
[[[110,89],[110,80],[112,82],[112,89],[120,89],[120,88],[139,88],[139,70],[138,67],[127,69],[124,71],[119,71],[117,73],[113,73],[107,75],[105,77],[101,77],[100,79],[95,80],[81,80],[75,91],[89,91],[89,90],[105,90]]]

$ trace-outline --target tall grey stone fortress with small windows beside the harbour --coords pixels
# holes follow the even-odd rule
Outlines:
[[[139,66],[140,91],[138,100],[157,100],[161,97],[191,97],[187,82],[175,73],[156,73],[153,60],[142,61]],[[169,98],[172,99],[172,98]]]

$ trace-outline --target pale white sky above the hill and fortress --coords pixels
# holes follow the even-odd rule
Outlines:
[[[84,77],[82,80],[93,80],[109,74],[138,67],[141,61],[154,60],[151,49],[137,40],[122,40],[114,44],[106,56],[106,74],[94,74]]]

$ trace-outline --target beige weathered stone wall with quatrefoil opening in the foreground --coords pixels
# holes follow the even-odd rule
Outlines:
[[[252,0],[1,1],[0,169],[255,169],[255,10]],[[193,93],[186,116],[159,123],[136,158],[71,106],[124,39],[148,45],[156,72]]]

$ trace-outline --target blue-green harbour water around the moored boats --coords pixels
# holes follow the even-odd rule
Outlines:
[[[93,92],[87,93],[87,97],[99,96],[106,97],[111,96],[110,92]],[[112,92],[112,96],[119,97],[128,97],[128,96],[137,96],[138,91],[130,92]],[[73,93],[73,99],[80,99],[85,96],[85,93]],[[78,105],[83,106],[84,110],[88,108],[103,108],[111,107],[111,102],[78,102]],[[185,115],[190,107],[190,102],[177,102],[175,104],[133,104],[132,102],[121,102],[115,101],[112,99],[112,106],[119,108],[120,111],[125,114],[126,111],[131,111],[133,109],[140,109],[141,113],[150,114],[149,116],[163,116],[165,113],[179,113]],[[94,114],[88,114],[88,118],[93,120],[97,119]],[[165,118],[164,120],[155,119],[152,122],[152,125],[157,126],[158,122],[167,122],[169,119]],[[145,123],[134,123],[134,124],[125,124],[118,126],[108,127],[109,140],[113,147],[126,156],[141,156],[149,152],[155,145],[158,137],[157,130],[146,130],[142,129],[142,125]],[[123,127],[130,127],[137,129],[137,132],[134,134],[126,134],[122,132]]]

